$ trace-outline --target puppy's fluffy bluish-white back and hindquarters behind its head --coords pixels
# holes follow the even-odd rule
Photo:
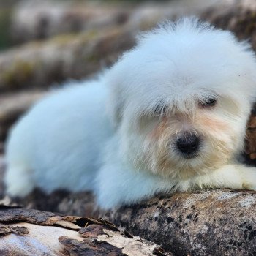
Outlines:
[[[6,148],[10,195],[26,195],[35,184],[46,192],[93,187],[102,143],[111,133],[105,94],[101,81],[69,84],[15,124]]]

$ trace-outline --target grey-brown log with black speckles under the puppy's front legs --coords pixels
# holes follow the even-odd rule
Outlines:
[[[175,193],[104,217],[177,256],[256,255],[256,192]]]

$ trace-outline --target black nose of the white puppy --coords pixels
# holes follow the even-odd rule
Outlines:
[[[186,132],[182,137],[179,137],[176,145],[184,154],[195,153],[199,146],[199,138],[195,133]]]

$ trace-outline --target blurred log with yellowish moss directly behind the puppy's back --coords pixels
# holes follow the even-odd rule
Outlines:
[[[66,34],[0,54],[0,91],[80,79],[108,67],[135,43],[132,33],[121,28]]]

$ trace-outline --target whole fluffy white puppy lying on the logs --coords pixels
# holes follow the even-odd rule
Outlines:
[[[256,168],[236,162],[255,97],[246,42],[196,18],[165,23],[98,80],[53,92],[21,118],[7,192],[91,189],[110,208],[157,192],[256,189]]]

